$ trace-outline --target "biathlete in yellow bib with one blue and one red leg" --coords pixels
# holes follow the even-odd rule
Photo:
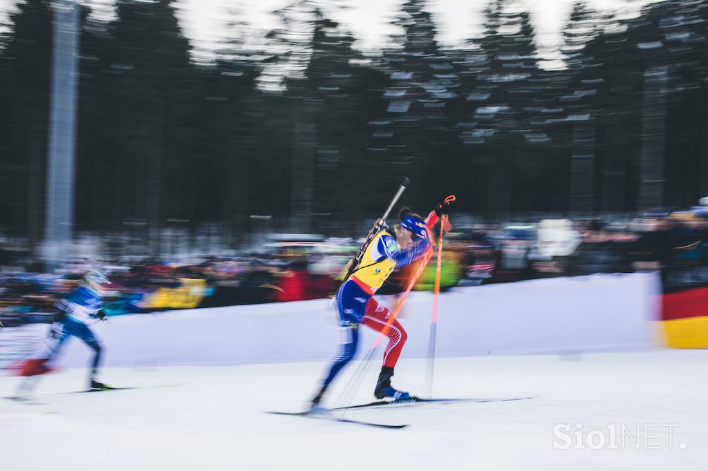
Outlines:
[[[406,344],[406,330],[398,320],[389,321],[391,312],[373,296],[395,268],[411,264],[423,257],[427,250],[432,250],[429,235],[433,233],[433,226],[440,215],[448,214],[449,210],[450,202],[442,202],[423,221],[421,216],[404,207],[399,212],[399,224],[392,230],[382,220],[375,225],[377,232],[362,248],[358,265],[350,270],[349,276],[336,293],[341,351],[333,360],[319,392],[312,399],[313,411],[321,409],[320,402],[327,388],[356,353],[360,325],[377,332],[384,332],[387,324],[390,325],[386,333],[389,342],[384,350],[381,373],[374,389],[375,397],[392,397],[401,401],[411,399],[408,392],[396,390],[391,385],[396,362]]]

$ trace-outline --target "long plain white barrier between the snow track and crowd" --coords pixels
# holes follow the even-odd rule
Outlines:
[[[458,288],[440,296],[437,354],[576,353],[636,350],[659,342],[659,279],[653,273],[592,275]],[[396,298],[381,296],[392,308]],[[413,292],[399,320],[409,334],[402,357],[428,351],[431,293]],[[337,351],[329,300],[125,315],[93,326],[106,366],[321,361]],[[359,354],[375,332],[360,327]],[[76,339],[62,366],[85,366]],[[385,344],[385,342],[384,342]]]

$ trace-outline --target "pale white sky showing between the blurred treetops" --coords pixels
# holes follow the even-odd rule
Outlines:
[[[93,6],[96,16],[112,18],[113,0],[83,0]],[[150,0],[144,0],[150,1]],[[537,37],[537,48],[549,66],[559,58],[557,52],[562,42],[562,31],[576,0],[519,0],[531,15]],[[224,23],[238,12],[258,34],[280,27],[273,11],[292,0],[177,0],[178,21],[185,35],[197,51],[213,50],[220,37],[226,33]],[[357,39],[355,47],[375,49],[387,42],[396,27],[389,21],[396,16],[404,0],[329,0],[314,1],[334,21],[338,21]],[[618,11],[622,16],[634,16],[641,6],[651,0],[588,0],[600,11]],[[6,23],[8,12],[15,0],[0,0],[0,23]],[[428,0],[428,9],[438,25],[438,42],[455,45],[482,33],[483,11],[487,0]]]

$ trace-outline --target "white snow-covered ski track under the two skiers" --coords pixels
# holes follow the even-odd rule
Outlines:
[[[538,397],[346,416],[410,424],[402,430],[263,413],[301,409],[324,363],[108,368],[101,379],[135,389],[89,394],[67,394],[85,387],[86,371],[71,369],[44,378],[37,404],[0,399],[0,469],[704,470],[707,360],[663,349],[438,359],[436,397]],[[373,399],[377,371],[353,402]],[[425,392],[425,371],[424,360],[401,359],[393,383]],[[17,381],[1,377],[0,395]]]

